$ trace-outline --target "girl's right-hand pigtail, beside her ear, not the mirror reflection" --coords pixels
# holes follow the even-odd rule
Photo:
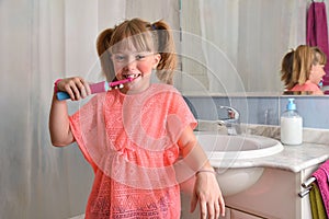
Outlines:
[[[156,50],[161,55],[161,60],[157,67],[157,77],[164,83],[173,84],[177,54],[172,33],[169,25],[163,21],[152,23],[150,28],[156,32]]]

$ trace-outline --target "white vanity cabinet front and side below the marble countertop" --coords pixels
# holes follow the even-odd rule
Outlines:
[[[229,208],[238,210],[231,209],[230,218],[311,218],[309,196],[306,195],[300,198],[298,193],[302,183],[309,177],[317,166],[297,173],[266,168],[261,178],[253,186],[225,198]]]

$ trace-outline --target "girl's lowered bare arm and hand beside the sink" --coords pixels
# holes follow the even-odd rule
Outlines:
[[[215,171],[190,126],[182,132],[178,143],[184,162],[196,173],[191,211],[195,210],[198,201],[201,218],[225,216],[225,203]]]

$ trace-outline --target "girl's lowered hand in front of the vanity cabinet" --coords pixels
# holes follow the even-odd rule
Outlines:
[[[191,212],[195,210],[198,201],[201,218],[219,218],[225,216],[225,203],[216,180],[209,172],[198,172],[195,177],[191,201]]]

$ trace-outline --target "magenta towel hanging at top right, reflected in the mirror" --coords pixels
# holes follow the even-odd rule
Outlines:
[[[306,44],[319,47],[329,59],[327,13],[325,2],[313,1],[307,10]],[[329,85],[329,61],[325,66],[324,85]]]

